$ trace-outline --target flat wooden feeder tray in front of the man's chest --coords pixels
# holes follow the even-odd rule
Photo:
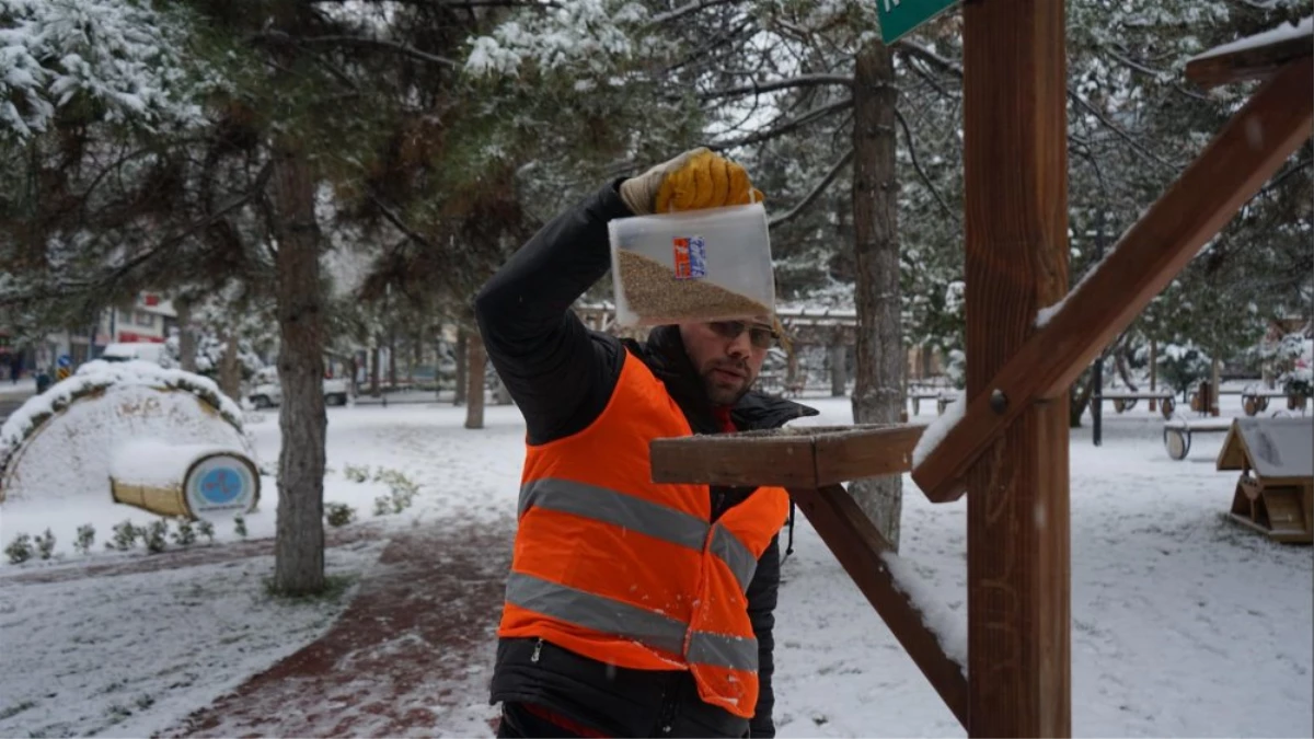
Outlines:
[[[654,483],[820,488],[901,475],[912,469],[922,431],[874,423],[656,439],[652,476]]]

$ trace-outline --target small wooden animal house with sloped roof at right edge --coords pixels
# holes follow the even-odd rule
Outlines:
[[[1240,469],[1233,521],[1277,542],[1314,543],[1314,421],[1238,418],[1218,469]]]

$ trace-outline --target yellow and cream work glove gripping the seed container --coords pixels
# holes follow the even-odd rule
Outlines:
[[[699,147],[620,183],[620,199],[636,216],[761,203],[744,167]]]

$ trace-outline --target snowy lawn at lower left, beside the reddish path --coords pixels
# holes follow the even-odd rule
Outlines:
[[[381,540],[328,550],[359,580]],[[0,579],[0,736],[142,739],[332,625],[332,598],[271,598],[273,558],[67,583]]]

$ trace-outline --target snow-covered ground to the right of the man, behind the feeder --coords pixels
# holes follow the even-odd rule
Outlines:
[[[846,402],[817,405],[809,423],[849,419]],[[1101,447],[1089,419],[1072,434],[1075,736],[1314,734],[1311,552],[1219,518],[1235,485],[1214,471],[1222,437],[1172,462],[1143,402],[1106,409]],[[904,490],[900,558],[966,622],[966,498]],[[803,517],[782,572],[781,739],[964,735]]]

